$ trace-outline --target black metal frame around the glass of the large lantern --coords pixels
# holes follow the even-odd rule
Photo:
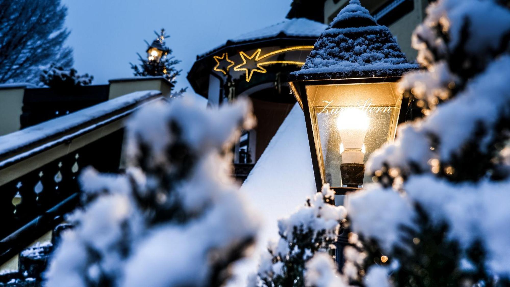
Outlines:
[[[317,76],[317,75],[314,75]],[[323,75],[321,75],[323,76]],[[313,77],[313,76],[312,76]],[[311,78],[312,78],[311,77]],[[301,78],[301,77],[300,77]],[[367,78],[339,78],[339,79],[324,79],[323,77],[313,77],[316,79],[292,79],[289,81],[289,87],[294,94],[297,102],[301,106],[304,113],[304,121],[307,126],[307,135],[310,145],[310,154],[312,156],[312,166],[314,170],[315,183],[317,190],[320,191],[323,185],[323,177],[321,173],[321,165],[319,164],[319,155],[322,152],[317,151],[316,141],[314,135],[314,127],[312,123],[312,115],[310,114],[310,106],[308,102],[306,86],[311,85],[339,85],[339,84],[373,84],[373,83],[390,83],[398,82],[402,76],[390,76],[390,77],[367,77]],[[317,79],[318,78],[318,79]],[[398,114],[397,125],[405,121],[406,109],[403,107],[407,105],[409,100],[401,97],[402,103]],[[355,192],[356,190],[362,189],[362,187],[330,187],[335,191],[336,195],[345,195],[349,192]]]

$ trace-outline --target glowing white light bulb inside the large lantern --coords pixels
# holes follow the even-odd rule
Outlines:
[[[337,118],[337,128],[342,143],[342,163],[363,163],[365,149],[363,142],[370,126],[367,114],[358,108],[343,110]]]

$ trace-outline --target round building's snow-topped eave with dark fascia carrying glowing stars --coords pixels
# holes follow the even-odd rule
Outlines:
[[[217,102],[212,97],[218,89],[227,94],[228,89],[234,88],[233,97],[239,94],[251,97],[261,89],[275,86],[279,79],[286,83],[288,74],[304,64],[326,27],[313,20],[293,18],[228,39],[197,56],[188,73],[188,81],[196,93],[213,102]],[[216,79],[219,79],[219,85],[214,84]],[[288,90],[281,94],[295,101],[289,97]],[[274,98],[275,101],[282,99]]]

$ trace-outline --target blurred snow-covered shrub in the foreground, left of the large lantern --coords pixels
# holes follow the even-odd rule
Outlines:
[[[68,220],[47,286],[219,286],[252,245],[258,221],[230,176],[232,143],[251,105],[161,101],[127,124],[123,175],[88,169],[89,203]]]

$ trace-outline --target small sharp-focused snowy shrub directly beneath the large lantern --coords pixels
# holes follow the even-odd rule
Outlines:
[[[270,243],[263,254],[254,285],[304,286],[305,265],[314,254],[335,248],[345,219],[345,208],[335,206],[333,199],[334,192],[326,185],[290,217],[278,221],[279,241]]]

